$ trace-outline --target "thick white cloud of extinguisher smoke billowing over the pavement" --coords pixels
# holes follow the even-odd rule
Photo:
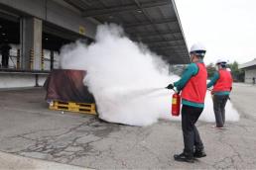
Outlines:
[[[159,119],[180,120],[171,117],[173,92],[164,88],[179,77],[169,75],[161,57],[130,41],[121,27],[98,26],[94,43],[65,45],[61,56],[64,69],[87,71],[84,84],[96,100],[101,119],[132,126],[148,126]],[[226,120],[238,119],[238,113],[228,106]],[[214,122],[209,97],[200,120]]]

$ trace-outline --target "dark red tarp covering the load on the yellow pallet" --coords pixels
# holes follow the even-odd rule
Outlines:
[[[53,70],[44,84],[47,90],[46,99],[48,101],[94,103],[93,96],[82,82],[85,74],[83,70]]]

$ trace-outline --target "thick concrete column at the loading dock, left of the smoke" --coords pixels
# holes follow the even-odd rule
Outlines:
[[[42,20],[23,17],[21,25],[21,67],[22,69],[41,70],[42,56]],[[31,58],[33,53],[33,58]]]

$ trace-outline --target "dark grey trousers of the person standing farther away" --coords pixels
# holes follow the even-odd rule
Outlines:
[[[223,127],[225,124],[225,106],[228,95],[213,95],[213,110],[216,127]]]

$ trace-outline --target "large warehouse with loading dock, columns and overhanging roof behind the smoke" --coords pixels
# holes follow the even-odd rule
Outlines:
[[[44,82],[65,43],[93,42],[104,23],[121,25],[171,64],[190,62],[173,0],[0,0],[0,45],[12,47],[9,63],[0,64],[0,88],[25,77]]]

